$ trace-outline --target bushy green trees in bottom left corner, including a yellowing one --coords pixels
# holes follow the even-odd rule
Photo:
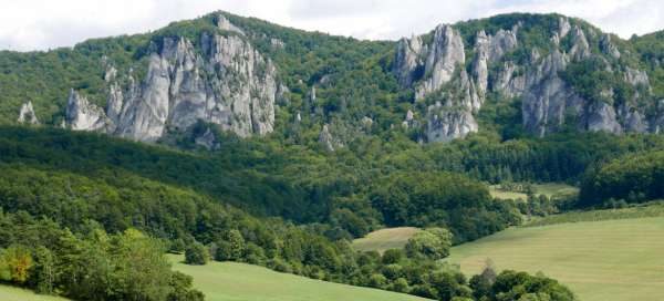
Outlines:
[[[0,248],[7,248],[1,260],[6,264],[0,264],[9,269],[6,280],[41,293],[77,300],[166,300],[176,284],[183,293],[193,292],[190,281],[170,281],[162,242],[137,230],[107,235],[93,226],[76,237],[24,211],[0,214],[0,226],[12,233],[0,239]]]

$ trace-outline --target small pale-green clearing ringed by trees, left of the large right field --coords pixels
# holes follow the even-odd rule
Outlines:
[[[418,231],[417,228],[402,227],[373,231],[366,237],[353,240],[353,248],[360,251],[383,252],[406,246],[408,239]]]

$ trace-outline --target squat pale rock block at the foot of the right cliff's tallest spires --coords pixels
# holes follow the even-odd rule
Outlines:
[[[426,137],[429,143],[450,142],[477,131],[477,122],[468,110],[444,106],[440,103],[427,110]]]

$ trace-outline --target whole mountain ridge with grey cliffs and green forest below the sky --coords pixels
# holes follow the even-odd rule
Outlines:
[[[209,41],[219,39],[234,41],[234,46],[210,52],[214,44]],[[520,124],[498,125],[536,136],[568,125],[614,134],[658,133],[664,104],[652,93],[660,91],[658,76],[653,85],[649,76],[658,70],[640,69],[644,65],[640,53],[629,43],[585,21],[554,13],[459,21],[393,42],[307,32],[217,11],[151,33],[89,40],[71,50],[43,52],[45,56],[56,53],[52,63],[68,68],[69,59],[62,56],[80,55],[75,60],[83,63],[72,65],[83,71],[70,73],[93,71],[92,76],[60,81],[62,87],[50,93],[50,102],[30,90],[8,89],[12,104],[0,108],[4,111],[0,116],[4,116],[2,123],[35,116],[44,124],[145,142],[186,131],[200,121],[242,137],[273,131],[283,136],[295,127],[308,127],[318,131],[308,135],[310,139],[332,150],[357,135],[394,127],[415,141],[465,137],[485,131],[479,114],[485,102],[494,98],[489,102],[522,102]],[[238,48],[246,51],[232,54]],[[25,76],[7,66],[22,55],[4,54],[19,56],[4,58],[0,64],[4,74]],[[249,71],[256,61],[266,65]],[[234,75],[240,69],[241,79]],[[357,79],[351,83],[346,80],[351,77]],[[574,82],[580,77],[587,79]],[[0,77],[1,82],[9,81]],[[25,85],[31,85],[30,80]],[[340,87],[347,91],[335,91]],[[253,93],[257,90],[262,94]],[[376,104],[375,100],[382,101]],[[29,102],[34,108],[19,116],[19,106],[29,108]],[[44,113],[44,107],[52,113]],[[209,135],[198,138],[214,148]]]

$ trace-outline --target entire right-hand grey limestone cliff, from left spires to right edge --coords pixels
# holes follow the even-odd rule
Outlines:
[[[519,98],[522,126],[538,136],[558,132],[564,125],[613,134],[658,132],[664,113],[657,105],[644,105],[651,93],[646,72],[619,61],[622,53],[611,35],[563,17],[557,22],[549,32],[547,48],[522,45],[521,22],[492,34],[479,30],[473,45],[464,44],[466,40],[452,25],[437,27],[428,44],[423,42],[425,37],[402,39],[393,72],[402,86],[413,89],[415,103],[435,103],[424,112],[427,139],[447,142],[477,132],[476,115],[488,93]],[[473,58],[469,65],[467,53]],[[634,87],[634,94],[619,100],[611,87],[600,97],[582,96],[568,82],[574,79],[561,74],[570,64],[588,61],[622,76]]]

